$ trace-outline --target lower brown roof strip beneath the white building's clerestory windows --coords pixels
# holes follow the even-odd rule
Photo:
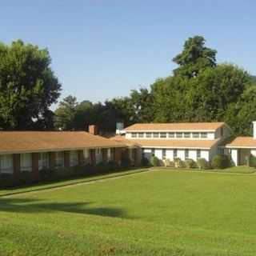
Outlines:
[[[210,149],[219,139],[214,140],[195,140],[195,139],[130,139],[136,146],[142,147],[163,147],[163,148],[194,148]],[[126,144],[128,146],[128,144]]]

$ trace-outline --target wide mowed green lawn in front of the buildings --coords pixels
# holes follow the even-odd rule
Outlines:
[[[0,198],[0,255],[255,255],[256,175],[154,170]]]

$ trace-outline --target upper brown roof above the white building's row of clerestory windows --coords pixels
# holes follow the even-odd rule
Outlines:
[[[135,123],[125,130],[217,130],[225,122]]]

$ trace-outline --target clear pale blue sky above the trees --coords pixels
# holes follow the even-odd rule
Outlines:
[[[194,35],[256,74],[256,1],[8,0],[0,41],[47,48],[62,96],[92,102],[127,96],[172,74],[172,58]]]

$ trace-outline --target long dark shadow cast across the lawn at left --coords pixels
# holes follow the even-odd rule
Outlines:
[[[75,214],[92,214],[114,218],[128,218],[126,213],[114,207],[91,207],[93,202],[40,202],[38,199],[28,198],[0,198],[0,213],[50,213],[53,211],[75,213]],[[88,207],[89,206],[89,207]]]

